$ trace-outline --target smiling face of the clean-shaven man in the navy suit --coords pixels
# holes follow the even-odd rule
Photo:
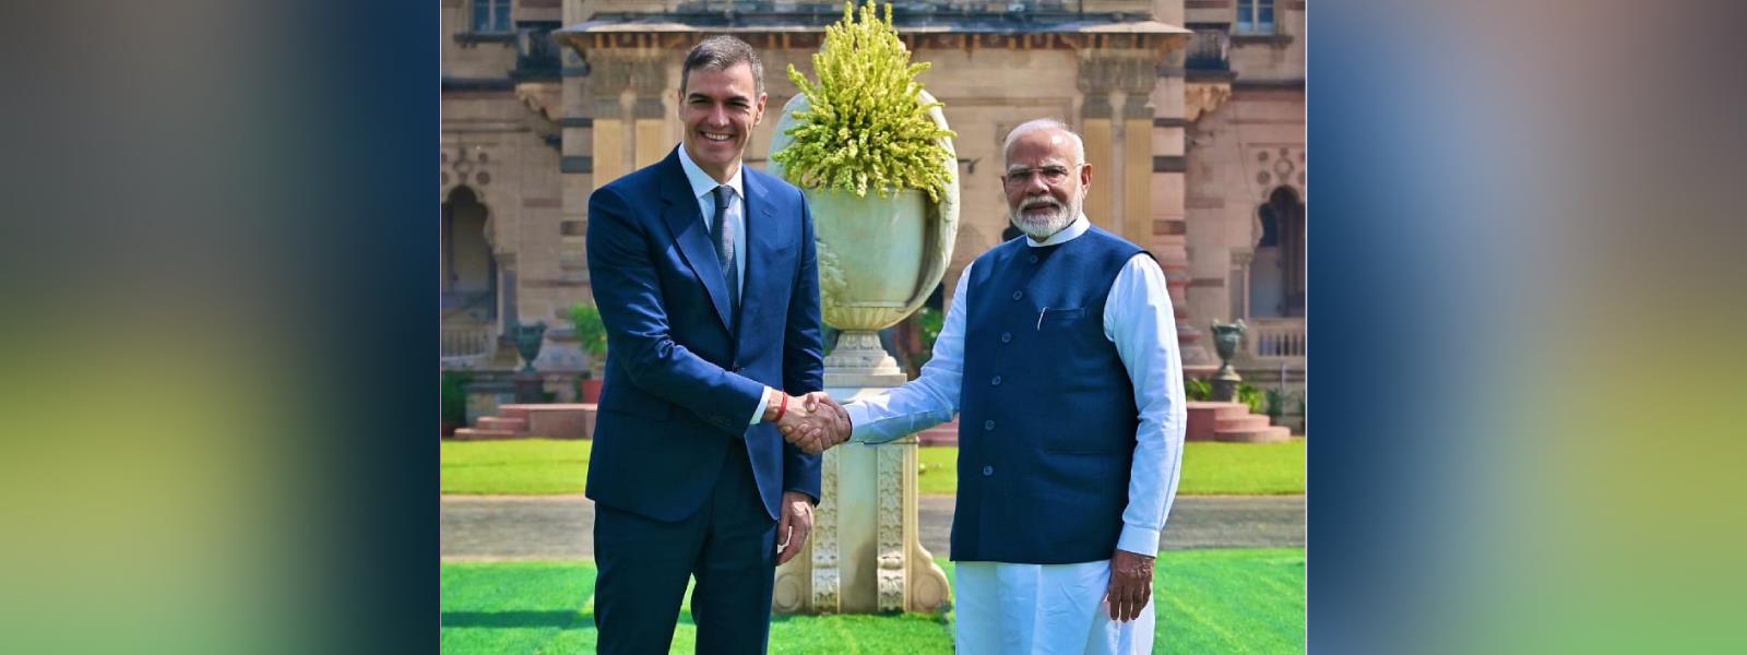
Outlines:
[[[753,126],[763,119],[763,105],[751,65],[692,70],[680,89],[685,154],[716,182],[728,182],[741,168]]]

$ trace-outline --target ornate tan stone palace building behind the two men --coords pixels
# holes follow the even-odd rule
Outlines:
[[[812,77],[832,2],[440,0],[442,365],[517,363],[508,327],[545,321],[538,367],[589,369],[566,309],[590,299],[589,194],[680,143],[680,63],[706,35],[758,49],[770,96],[746,154]],[[1211,321],[1242,318],[1247,381],[1305,372],[1305,2],[896,2],[922,84],[957,131],[952,290],[1008,232],[1001,140],[1055,117],[1085,136],[1087,217],[1165,269],[1184,365],[1218,365]],[[566,390],[557,390],[561,400]]]

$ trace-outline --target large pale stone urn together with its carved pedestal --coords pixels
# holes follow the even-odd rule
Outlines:
[[[921,93],[924,103],[933,96]],[[783,107],[770,152],[791,143],[798,94]],[[929,117],[947,129],[945,114]],[[825,391],[849,400],[905,383],[877,332],[896,325],[928,300],[947,272],[959,229],[957,154],[942,140],[938,166],[949,183],[940,201],[922,190],[880,197],[868,192],[802,189],[812,208],[825,323],[840,330],[825,358]],[[774,175],[783,164],[770,161]],[[777,613],[942,611],[950,585],[921,543],[917,521],[917,438],[882,445],[840,445],[819,463],[823,498],[805,550],[777,568]]]

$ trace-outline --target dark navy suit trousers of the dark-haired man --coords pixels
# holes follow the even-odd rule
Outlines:
[[[662,480],[648,480],[660,484]],[[601,653],[666,653],[687,578],[699,653],[763,653],[770,639],[776,526],[744,444],[728,447],[697,514],[655,521],[596,505],[594,625]]]

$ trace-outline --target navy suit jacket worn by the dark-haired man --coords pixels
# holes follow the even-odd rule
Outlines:
[[[819,498],[819,458],[776,424],[749,424],[765,386],[825,386],[812,215],[793,185],[741,169],[739,314],[678,148],[589,197],[589,278],[608,341],[589,461],[596,503],[685,519],[704,507],[728,449],[746,449],[772,519],[784,491]]]

